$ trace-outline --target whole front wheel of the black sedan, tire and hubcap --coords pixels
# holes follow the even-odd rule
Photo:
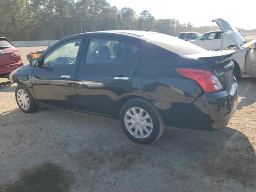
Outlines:
[[[35,112],[39,107],[25,85],[18,84],[15,91],[15,98],[20,110],[25,113]]]

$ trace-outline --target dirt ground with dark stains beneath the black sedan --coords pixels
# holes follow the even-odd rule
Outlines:
[[[170,128],[140,145],[118,120],[49,108],[25,114],[16,84],[2,78],[0,191],[255,192],[256,79],[238,85],[238,110],[226,128]]]

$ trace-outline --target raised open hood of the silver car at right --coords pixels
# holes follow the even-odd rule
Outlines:
[[[222,32],[230,34],[230,37],[234,40],[238,48],[240,48],[243,44],[246,43],[246,40],[240,34],[240,32],[238,32],[236,28],[230,26],[230,24],[226,22],[224,19],[218,18],[212,20],[212,22],[216,22],[216,24],[220,27],[220,30]]]

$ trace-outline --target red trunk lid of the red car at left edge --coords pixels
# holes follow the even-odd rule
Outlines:
[[[14,51],[16,51],[14,47],[0,49],[0,66],[18,62],[18,56],[14,55]]]

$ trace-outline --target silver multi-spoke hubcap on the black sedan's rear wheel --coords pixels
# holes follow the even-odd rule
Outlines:
[[[150,115],[139,107],[132,107],[125,113],[124,123],[130,134],[140,139],[150,136],[153,130]]]

